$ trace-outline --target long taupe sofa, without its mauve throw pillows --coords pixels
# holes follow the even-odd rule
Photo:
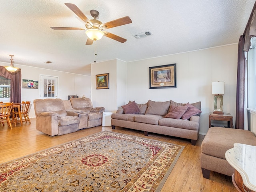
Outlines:
[[[132,103],[132,102],[129,102]],[[129,104],[128,103],[128,104]],[[135,102],[134,102],[135,103]],[[168,136],[176,136],[180,138],[187,138],[191,140],[192,145],[196,144],[198,140],[199,128],[200,128],[200,110],[201,102],[189,104],[194,108],[190,109],[195,111],[200,111],[197,115],[193,115],[188,120],[172,117],[171,113],[173,109],[178,106],[180,108],[186,108],[185,103],[176,103],[172,100],[166,102],[156,102],[149,100],[146,104],[136,104],[139,112],[135,114],[125,113],[125,110],[128,111],[126,105],[120,107],[116,113],[113,113],[111,116],[111,125],[112,129],[115,129],[116,126],[125,127],[135,130],[144,131],[145,135],[148,135],[148,132],[164,134]],[[129,109],[129,108],[128,108]],[[186,114],[187,111],[185,111]],[[168,116],[170,114],[170,116]],[[185,115],[184,114],[184,115]],[[183,115],[183,116],[184,116]],[[183,117],[182,116],[182,117]]]

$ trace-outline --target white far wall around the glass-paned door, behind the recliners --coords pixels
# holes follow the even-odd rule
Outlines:
[[[0,62],[2,66],[8,66],[10,63]],[[23,66],[19,64],[14,64],[14,66],[21,68],[21,78],[30,80],[39,80],[40,75],[47,76],[58,76],[58,98],[62,100],[68,100],[68,95],[78,95],[82,97],[85,95],[90,98],[91,91],[91,77],[72,74],[54,70],[46,70],[42,68],[35,68],[29,66]],[[39,83],[40,84],[40,83]],[[30,117],[35,117],[33,100],[40,98],[40,86],[38,89],[21,89],[21,100],[31,101],[31,108],[29,112]]]

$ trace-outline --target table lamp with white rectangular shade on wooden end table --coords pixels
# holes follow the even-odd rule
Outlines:
[[[223,94],[224,82],[212,82],[212,94],[214,94],[214,111],[216,114],[224,114],[223,112]]]

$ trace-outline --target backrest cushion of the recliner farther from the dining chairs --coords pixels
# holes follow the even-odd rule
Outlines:
[[[90,112],[93,108],[90,98],[70,98],[73,109],[82,110],[83,112]]]

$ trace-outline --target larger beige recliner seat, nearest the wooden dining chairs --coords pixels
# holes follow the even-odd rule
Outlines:
[[[50,136],[78,130],[78,116],[68,116],[61,99],[34,100],[36,129]]]

